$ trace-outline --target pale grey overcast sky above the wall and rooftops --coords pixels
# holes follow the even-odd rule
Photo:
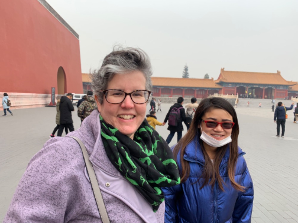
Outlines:
[[[217,79],[225,70],[281,71],[298,81],[297,0],[46,0],[80,35],[82,72],[116,44],[142,48],[153,76]]]

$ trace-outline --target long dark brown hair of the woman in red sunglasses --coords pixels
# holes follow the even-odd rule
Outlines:
[[[201,131],[199,131],[198,126],[201,125],[202,117],[206,112],[209,112],[212,109],[224,109],[227,111],[230,115],[233,117],[233,122],[235,125],[232,128],[232,142],[230,143],[230,155],[229,155],[229,161],[228,161],[228,176],[231,181],[232,186],[238,190],[238,191],[244,191],[244,187],[239,185],[235,181],[235,166],[238,159],[238,135],[239,135],[239,125],[238,125],[238,119],[235,112],[235,109],[233,106],[225,99],[223,98],[205,98],[201,100],[198,108],[195,110],[195,115],[193,118],[192,123],[190,124],[190,128],[187,131],[187,133],[183,136],[183,138],[178,142],[176,147],[174,148],[174,156],[176,158],[176,161],[180,159],[181,161],[181,167],[180,170],[180,177],[181,177],[181,183],[185,182],[187,178],[190,175],[190,165],[188,161],[183,159],[184,152],[186,149],[186,146],[195,138],[200,138]],[[204,145],[202,143],[202,140],[199,139],[199,144],[201,146],[202,152],[204,154],[205,158],[205,165],[204,170],[202,172],[202,177],[204,178],[204,183],[201,185],[201,188],[206,186],[208,183],[213,187],[215,185],[215,182],[218,182],[218,186],[222,191],[224,191],[223,187],[223,179],[221,178],[219,174],[219,165],[221,163],[222,158],[224,157],[224,154],[226,153],[227,145],[219,147],[217,149],[217,153],[214,159],[214,162],[212,163],[211,159],[209,158]],[[196,148],[197,149],[197,146]],[[180,157],[178,157],[178,153],[180,153]],[[210,180],[210,182],[209,182]]]

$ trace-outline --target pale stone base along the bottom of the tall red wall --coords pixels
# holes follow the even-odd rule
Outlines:
[[[2,98],[3,93],[0,92],[1,104],[0,107],[3,108]],[[36,108],[44,107],[49,105],[51,102],[50,94],[33,94],[33,93],[15,93],[15,92],[6,92],[8,94],[9,100],[11,102],[11,109],[27,109],[27,108]],[[57,95],[55,95],[56,98]]]

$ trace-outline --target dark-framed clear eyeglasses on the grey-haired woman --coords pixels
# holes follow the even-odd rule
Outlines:
[[[144,104],[148,101],[151,94],[151,92],[147,90],[134,90],[130,93],[126,93],[118,89],[107,89],[101,92],[103,92],[103,94],[105,95],[105,99],[107,100],[107,102],[111,104],[122,103],[127,95],[131,97],[131,100],[134,103]]]

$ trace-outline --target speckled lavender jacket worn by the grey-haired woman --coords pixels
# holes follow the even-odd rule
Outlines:
[[[111,222],[164,222],[164,202],[153,213],[150,204],[108,159],[98,111],[68,136],[78,137],[86,146]],[[74,139],[52,138],[31,159],[5,222],[102,222],[81,149]]]

